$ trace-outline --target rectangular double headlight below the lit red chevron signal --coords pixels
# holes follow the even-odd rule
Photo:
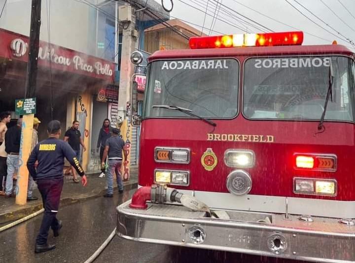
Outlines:
[[[337,194],[337,182],[334,179],[293,178],[294,193],[331,195]]]

